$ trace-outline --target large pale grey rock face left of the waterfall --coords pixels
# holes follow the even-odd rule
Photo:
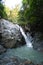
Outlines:
[[[20,33],[19,25],[13,24],[7,20],[0,20],[0,33],[2,34],[3,46],[12,48],[24,44],[23,36]],[[17,43],[18,42],[18,43]],[[19,45],[18,45],[19,44]]]

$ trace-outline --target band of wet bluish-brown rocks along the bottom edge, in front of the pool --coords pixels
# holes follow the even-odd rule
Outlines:
[[[34,64],[32,61],[21,59],[19,57],[4,57],[0,59],[0,65],[43,65],[43,62],[41,64]]]

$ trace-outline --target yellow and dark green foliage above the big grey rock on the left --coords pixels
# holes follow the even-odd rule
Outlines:
[[[19,6],[17,5],[14,9],[10,10],[0,2],[0,18],[7,19],[11,22],[16,22],[18,20]]]

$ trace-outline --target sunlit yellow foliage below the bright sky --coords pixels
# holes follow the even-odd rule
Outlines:
[[[7,14],[7,19],[13,23],[17,23],[18,20],[18,12],[19,12],[19,6],[17,5],[14,9],[10,10],[9,7],[4,8],[6,14]]]

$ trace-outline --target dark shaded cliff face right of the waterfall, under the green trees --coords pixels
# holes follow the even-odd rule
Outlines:
[[[33,48],[38,50],[38,51],[43,52],[43,32],[31,30],[31,25],[24,26],[24,30],[25,30],[26,34],[28,33],[32,36]]]

